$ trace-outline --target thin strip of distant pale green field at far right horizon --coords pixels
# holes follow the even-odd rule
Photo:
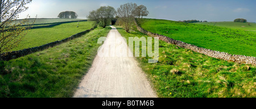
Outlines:
[[[239,30],[245,30],[250,32],[256,32],[256,23],[240,23],[240,22],[198,22],[195,24],[205,24],[209,26],[218,26],[218,27],[226,27],[233,28]]]

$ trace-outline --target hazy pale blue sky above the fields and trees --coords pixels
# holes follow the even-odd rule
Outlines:
[[[256,22],[256,0],[32,0],[29,9],[20,14],[25,18],[57,18],[61,11],[75,11],[79,18],[86,18],[89,11],[100,6],[117,9],[124,3],[133,2],[147,7],[150,14],[146,18],[169,20],[233,21],[236,18]]]

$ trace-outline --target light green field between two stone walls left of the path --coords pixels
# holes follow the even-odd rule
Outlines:
[[[38,28],[28,30],[27,35],[19,43],[19,46],[12,49],[18,51],[20,49],[32,48],[43,44],[51,43],[53,41],[62,40],[76,33],[89,30],[93,27],[93,22],[80,22],[77,27],[77,22],[60,24],[59,26],[51,28]]]

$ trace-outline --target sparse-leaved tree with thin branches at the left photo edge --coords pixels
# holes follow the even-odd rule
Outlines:
[[[0,0],[0,53],[9,52],[11,49],[18,46],[19,42],[26,35],[27,28],[31,27],[28,24],[28,19],[24,19],[19,23],[15,23],[19,18],[20,12],[26,11],[26,5],[32,0]],[[27,23],[27,28],[22,27],[22,24]]]

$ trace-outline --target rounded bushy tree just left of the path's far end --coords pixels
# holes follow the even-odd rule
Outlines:
[[[96,11],[94,10],[90,11],[87,18],[89,20],[96,21],[96,24],[105,28],[111,23],[112,18],[114,18],[114,15],[116,14],[116,12],[117,11],[115,11],[114,7],[101,6],[100,9],[97,9]]]

